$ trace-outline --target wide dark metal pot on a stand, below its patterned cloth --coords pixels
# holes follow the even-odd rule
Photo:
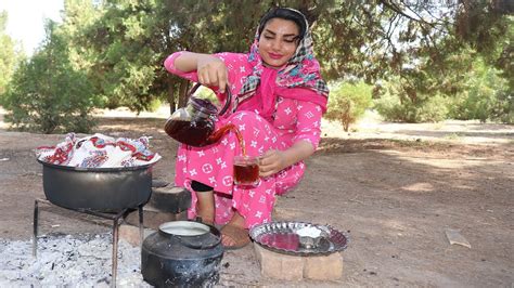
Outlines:
[[[44,162],[47,199],[70,209],[120,211],[146,204],[152,195],[152,165],[80,168]]]

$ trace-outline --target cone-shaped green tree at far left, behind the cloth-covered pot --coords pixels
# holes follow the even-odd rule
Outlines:
[[[2,105],[5,121],[22,131],[89,132],[98,105],[87,75],[73,67],[63,35],[49,23],[44,45],[13,75]]]

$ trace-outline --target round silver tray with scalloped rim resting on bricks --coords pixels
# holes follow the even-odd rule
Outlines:
[[[300,237],[297,232],[305,227],[321,231],[320,237]],[[292,256],[323,256],[343,251],[348,245],[348,236],[329,226],[305,222],[271,222],[254,226],[249,236],[266,249]],[[310,238],[310,239],[309,239]],[[306,239],[309,245],[306,245]],[[314,245],[312,241],[314,240]]]

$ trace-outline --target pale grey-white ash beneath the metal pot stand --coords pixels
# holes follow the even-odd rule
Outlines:
[[[31,240],[0,239],[0,287],[108,287],[112,235],[49,235]],[[152,287],[141,275],[141,250],[118,241],[117,286]]]

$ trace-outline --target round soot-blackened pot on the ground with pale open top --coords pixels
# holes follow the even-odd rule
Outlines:
[[[213,287],[223,258],[220,232],[193,221],[163,223],[141,248],[143,279],[156,287]]]

